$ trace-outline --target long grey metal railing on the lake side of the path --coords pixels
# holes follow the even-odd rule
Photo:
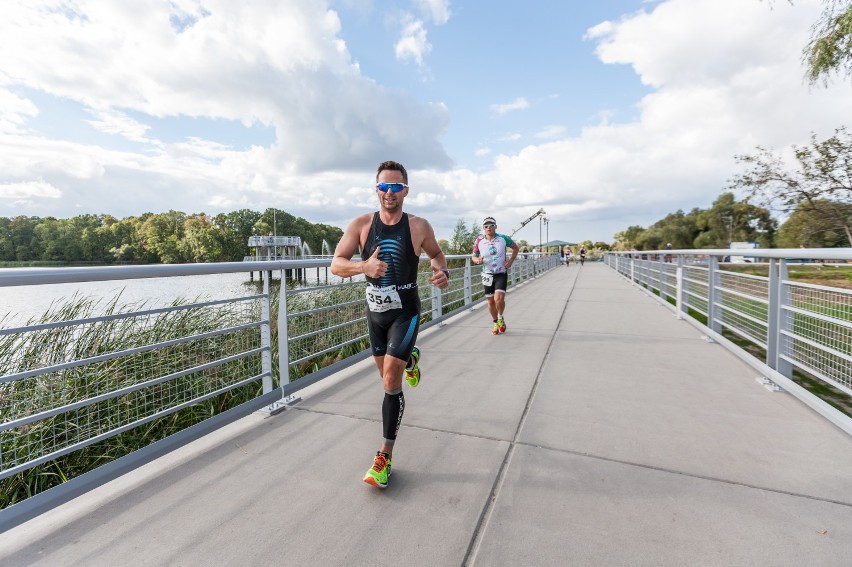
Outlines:
[[[471,265],[468,256],[449,260],[454,267],[443,292],[428,281],[428,260],[421,262],[421,328],[482,299],[480,266]],[[558,261],[522,255],[511,269],[510,287]],[[0,269],[0,294],[8,286],[250,271],[283,275],[329,265],[330,258]],[[0,328],[0,480],[122,434],[143,447],[162,443],[152,433],[154,424],[200,406],[186,420],[195,433],[173,435],[170,443],[203,434],[198,423],[209,430],[252,411],[277,411],[298,390],[370,354],[364,282],[337,281],[313,287],[282,283],[270,290],[266,277],[262,289],[248,295],[159,308],[115,300],[97,314],[82,300],[39,322]],[[161,454],[163,447],[148,454]]]

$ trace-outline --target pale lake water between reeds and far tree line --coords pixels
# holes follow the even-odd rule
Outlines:
[[[317,282],[315,270],[306,270],[307,284]],[[320,270],[325,282],[325,270]],[[331,274],[329,283],[340,281]],[[274,278],[277,282],[277,277]],[[263,290],[255,274],[254,282],[248,272],[214,274],[206,276],[175,276],[170,278],[147,278],[105,282],[48,284],[16,287],[0,287],[0,328],[24,325],[29,319],[40,317],[51,304],[62,304],[77,294],[93,297],[105,305],[121,294],[120,304],[145,301],[149,308],[171,305],[177,298],[186,300],[225,299],[254,295]],[[97,314],[97,312],[96,312]],[[4,317],[5,316],[5,317]]]

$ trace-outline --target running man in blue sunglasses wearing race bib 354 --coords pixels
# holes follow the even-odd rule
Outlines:
[[[402,375],[412,387],[420,382],[420,349],[414,343],[420,328],[417,266],[420,253],[431,259],[433,285],[447,287],[450,272],[432,225],[402,212],[408,195],[408,172],[402,164],[386,161],[376,171],[379,210],[357,217],[346,228],[334,250],[331,273],[343,278],[364,274],[367,280],[367,328],[373,360],[385,389],[382,401],[384,438],[364,482],[388,485],[391,457],[405,396]],[[360,250],[361,260],[352,260]]]

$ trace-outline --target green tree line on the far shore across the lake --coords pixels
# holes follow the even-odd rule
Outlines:
[[[180,211],[111,215],[0,217],[0,261],[32,263],[130,264],[235,262],[249,252],[253,235],[299,236],[319,254],[322,242],[334,246],[343,231],[314,224],[284,211],[240,209],[210,216]]]

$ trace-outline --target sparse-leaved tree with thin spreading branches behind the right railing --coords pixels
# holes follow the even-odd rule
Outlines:
[[[809,146],[793,146],[798,167],[792,171],[772,151],[760,146],[757,150],[754,155],[736,156],[750,169],[735,176],[731,187],[784,212],[811,211],[808,218],[844,233],[845,245],[852,245],[852,218],[845,214],[848,209],[833,205],[852,204],[852,135],[846,128],[838,128],[823,141],[811,134]]]

